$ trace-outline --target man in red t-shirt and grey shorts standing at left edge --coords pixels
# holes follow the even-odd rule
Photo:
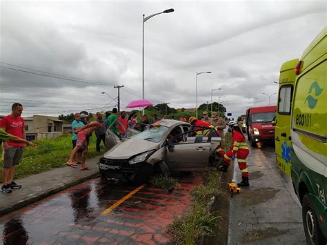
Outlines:
[[[23,106],[19,103],[12,105],[12,112],[10,115],[3,117],[0,121],[0,128],[21,139],[26,139],[25,122],[21,117]],[[6,190],[21,188],[21,185],[16,184],[14,180],[14,166],[19,164],[23,156],[23,148],[25,144],[14,141],[7,141],[3,144],[4,160],[2,168],[2,182],[1,191],[8,193]]]

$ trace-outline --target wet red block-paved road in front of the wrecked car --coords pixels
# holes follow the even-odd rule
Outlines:
[[[172,193],[146,185],[110,213],[136,187],[92,179],[0,218],[3,244],[166,244],[166,226],[192,207],[190,190],[201,174],[179,177]]]

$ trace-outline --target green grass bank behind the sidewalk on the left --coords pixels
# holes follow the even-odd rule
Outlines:
[[[96,157],[105,152],[103,144],[101,144],[100,153],[95,150],[96,140],[95,135],[90,138],[87,158]],[[23,159],[16,166],[15,179],[65,166],[72,150],[71,135],[61,135],[54,139],[37,139],[33,142],[37,144],[37,147],[24,149]],[[2,174],[2,168],[0,173]],[[2,182],[1,176],[0,181]]]

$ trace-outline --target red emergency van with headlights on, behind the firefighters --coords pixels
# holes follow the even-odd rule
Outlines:
[[[264,141],[275,142],[276,106],[252,107],[246,110],[248,140],[252,147]]]

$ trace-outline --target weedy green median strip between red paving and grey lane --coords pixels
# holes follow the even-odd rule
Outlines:
[[[168,225],[168,233],[172,236],[174,243],[196,244],[201,235],[214,233],[212,228],[219,217],[210,213],[208,203],[212,197],[219,195],[220,190],[217,187],[219,178],[217,170],[210,169],[206,173],[206,184],[192,189],[191,194],[195,202],[192,211]]]

